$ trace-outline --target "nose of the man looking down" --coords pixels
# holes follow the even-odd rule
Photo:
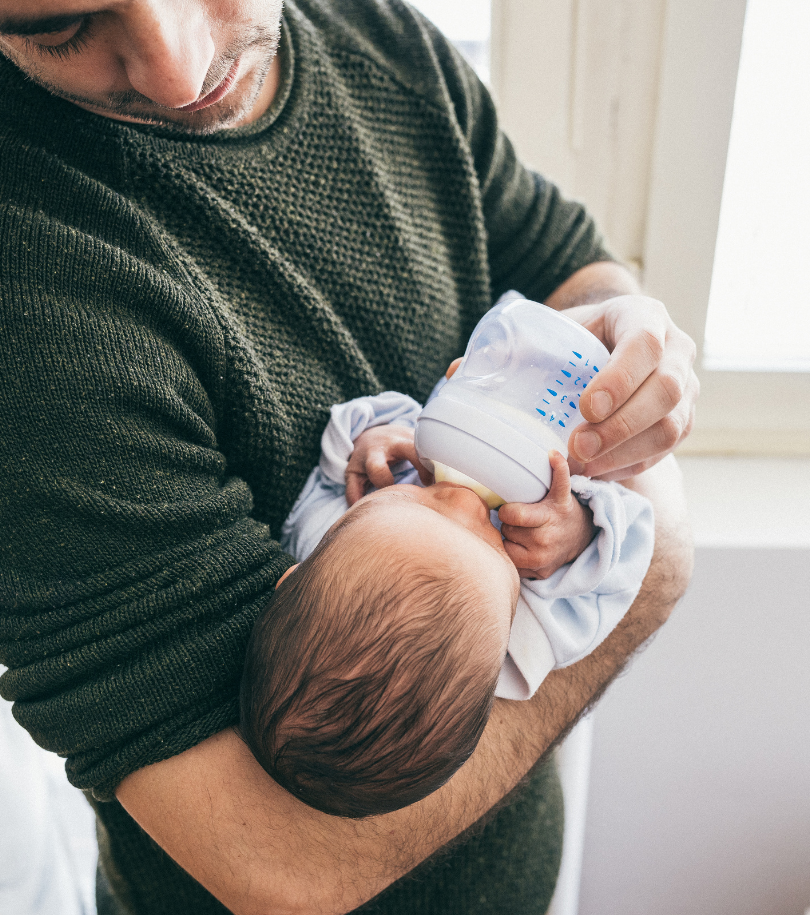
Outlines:
[[[125,33],[121,57],[133,89],[167,108],[197,101],[215,52],[202,4],[141,0]]]

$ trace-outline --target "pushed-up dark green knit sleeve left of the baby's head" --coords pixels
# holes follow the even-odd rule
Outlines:
[[[290,559],[220,447],[210,311],[53,221],[5,237],[0,684],[70,781],[111,799],[238,720],[244,646]],[[71,256],[36,256],[53,246]]]

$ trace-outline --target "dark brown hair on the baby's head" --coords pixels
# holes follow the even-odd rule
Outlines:
[[[398,810],[443,785],[492,709],[502,636],[476,622],[484,589],[442,567],[394,564],[391,543],[344,535],[350,512],[257,620],[242,736],[272,778],[344,817]]]

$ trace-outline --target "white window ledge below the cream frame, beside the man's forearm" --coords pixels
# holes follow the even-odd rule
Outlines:
[[[698,547],[810,549],[810,458],[679,457]]]

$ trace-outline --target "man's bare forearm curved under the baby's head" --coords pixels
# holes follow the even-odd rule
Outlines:
[[[692,553],[677,467],[670,458],[629,485],[654,503],[656,550],[627,616],[591,655],[550,674],[531,701],[497,701],[469,762],[424,801],[361,821],[321,814],[279,788],[231,730],[134,772],[118,799],[237,915],[336,915],[370,899],[514,788],[682,595]]]

